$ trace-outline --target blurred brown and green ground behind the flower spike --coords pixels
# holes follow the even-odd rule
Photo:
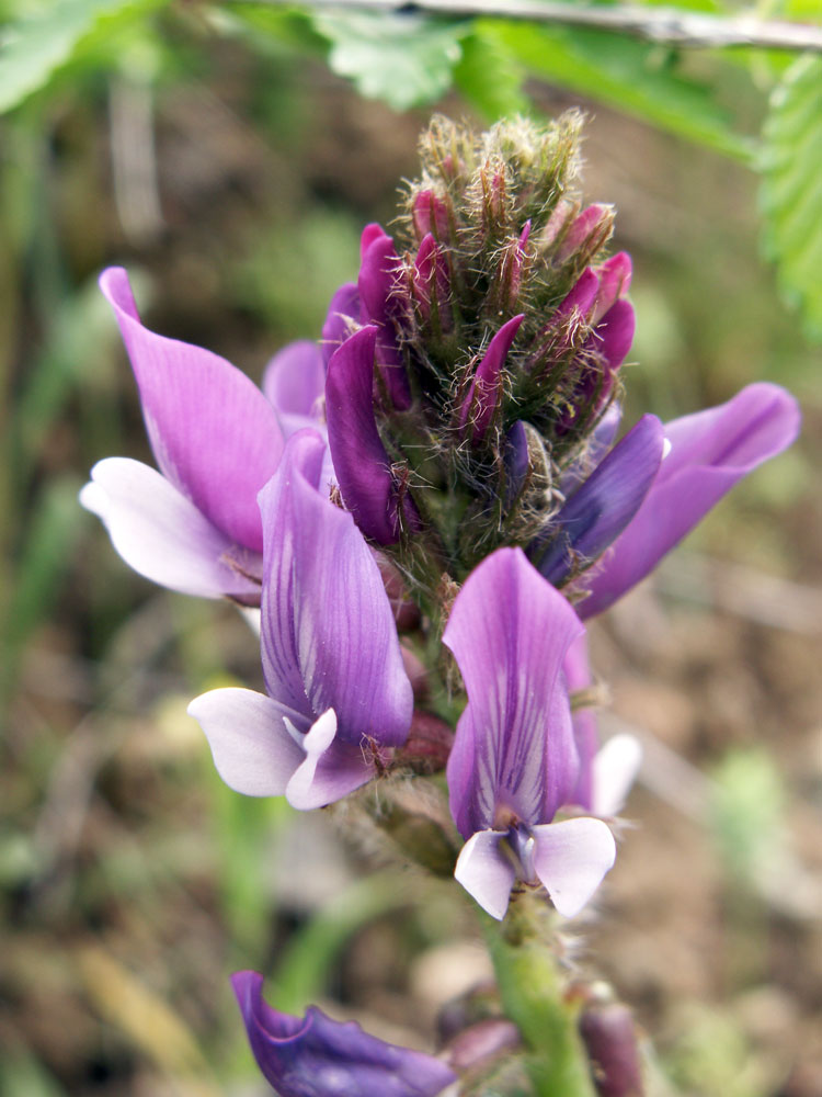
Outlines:
[[[77,504],[99,459],[151,461],[96,276],[126,265],[151,328],[259,380],[318,336],[362,226],[390,226],[431,109],[363,99],[194,5],[103,47],[116,70],[92,50],[0,120],[0,1094],[252,1097],[231,971],[265,972],[282,1009],[432,1048],[489,969],[456,889],[216,777],[185,706],[258,687],[254,637],[128,570]],[[755,118],[750,83],[722,79]],[[804,409],[800,442],[592,625],[603,728],[632,728],[647,764],[569,963],[635,1008],[677,1092],[819,1097],[822,355],[777,297],[744,166],[527,90],[587,111],[584,193],[633,256],[628,421],[757,378]]]

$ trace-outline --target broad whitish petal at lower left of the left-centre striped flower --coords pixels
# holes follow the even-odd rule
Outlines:
[[[283,709],[250,689],[215,689],[189,705],[226,784],[247,796],[282,796],[305,758]]]

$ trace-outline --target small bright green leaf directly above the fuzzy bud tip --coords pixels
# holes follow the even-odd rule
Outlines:
[[[515,55],[494,37],[478,30],[463,39],[463,57],[454,81],[486,121],[524,114],[528,99],[522,90],[525,70]]]

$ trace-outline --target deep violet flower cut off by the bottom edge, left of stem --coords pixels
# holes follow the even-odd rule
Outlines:
[[[256,1064],[279,1097],[436,1097],[456,1082],[439,1060],[386,1043],[356,1021],[316,1006],[305,1017],[273,1009],[254,971],[232,976]]]

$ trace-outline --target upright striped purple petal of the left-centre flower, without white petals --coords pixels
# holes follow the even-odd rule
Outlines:
[[[311,723],[333,709],[343,743],[396,746],[411,723],[411,683],[372,551],[317,490],[323,449],[313,431],[295,434],[260,493],[266,687]]]

